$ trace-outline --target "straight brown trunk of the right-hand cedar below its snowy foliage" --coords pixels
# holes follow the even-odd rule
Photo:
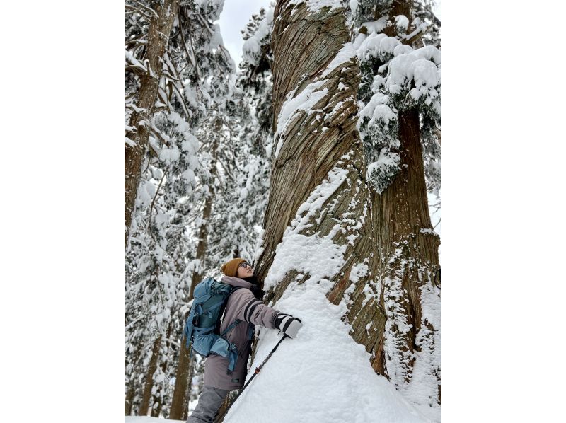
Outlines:
[[[372,200],[380,247],[380,279],[388,301],[386,349],[388,373],[398,388],[411,383],[415,360],[424,359],[429,377],[437,378],[437,392],[424,392],[440,402],[439,322],[440,286],[438,248],[432,230],[424,180],[419,113],[400,112],[400,170],[381,195]],[[428,313],[423,313],[423,292]],[[392,300],[392,301],[391,301]],[[436,310],[434,310],[436,309]],[[432,316],[432,318],[431,318]],[[427,357],[424,357],[427,356]]]

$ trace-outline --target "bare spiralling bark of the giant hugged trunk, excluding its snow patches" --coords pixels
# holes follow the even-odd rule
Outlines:
[[[287,128],[275,137],[275,146],[278,142],[282,142],[282,146],[272,164],[263,250],[255,273],[265,279],[285,229],[294,219],[304,218],[304,213],[298,213],[299,207],[316,192],[316,187],[324,180],[336,178],[337,174],[344,175],[340,186],[308,217],[311,226],[307,225],[299,233],[316,234],[330,238],[337,245],[345,245],[344,265],[327,275],[333,284],[327,297],[332,303],[340,303],[345,296],[352,300],[347,301],[349,310],[344,319],[352,323],[354,340],[371,352],[375,371],[383,373],[383,337],[379,335],[385,328],[385,313],[383,301],[380,301],[381,290],[375,283],[376,240],[362,145],[356,129],[355,99],[360,71],[355,53],[344,47],[349,39],[344,11],[338,1],[334,6],[338,7],[330,10],[325,6],[311,12],[304,3],[293,7],[289,6],[289,1],[279,1],[275,7],[272,35],[274,128],[289,93],[296,97],[312,87],[312,83],[324,80],[317,89],[327,89],[328,93],[311,107],[315,112],[294,112]],[[341,54],[340,57],[345,57],[342,63],[325,72],[341,49],[350,58]],[[323,127],[328,129],[323,130]],[[350,279],[354,267],[357,277]],[[364,272],[359,272],[362,268]],[[267,300],[277,301],[297,273],[288,272],[275,289],[267,293]],[[305,274],[299,283],[309,276]],[[369,301],[364,301],[364,288],[368,286],[373,295]]]

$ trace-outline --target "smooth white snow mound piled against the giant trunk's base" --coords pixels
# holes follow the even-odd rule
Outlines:
[[[304,323],[284,340],[226,415],[229,423],[428,422],[369,363],[369,354],[340,320],[345,303],[325,297],[330,282],[291,282],[275,308]],[[292,293],[292,295],[291,295]],[[282,335],[260,328],[252,369]],[[248,378],[253,371],[248,373]]]

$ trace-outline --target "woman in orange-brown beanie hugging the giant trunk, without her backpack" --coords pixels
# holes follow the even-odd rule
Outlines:
[[[238,361],[232,373],[227,371],[229,361],[219,355],[209,355],[204,364],[204,388],[195,411],[187,423],[212,423],[222,402],[233,389],[240,389],[246,381],[246,364],[250,357],[254,325],[282,330],[291,338],[296,337],[302,327],[301,320],[292,315],[280,313],[262,303],[258,278],[253,267],[243,258],[235,258],[221,267],[222,282],[239,289],[233,291],[226,302],[220,332],[231,323],[240,320],[226,335],[229,342],[238,348]]]

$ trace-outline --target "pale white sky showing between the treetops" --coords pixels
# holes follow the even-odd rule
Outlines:
[[[224,0],[224,9],[217,23],[220,25],[224,47],[230,52],[236,66],[242,59],[243,39],[240,31],[246,27],[253,13],[258,13],[262,6],[267,9],[269,5],[270,0]],[[440,21],[441,7],[442,0],[437,0],[434,13]]]

